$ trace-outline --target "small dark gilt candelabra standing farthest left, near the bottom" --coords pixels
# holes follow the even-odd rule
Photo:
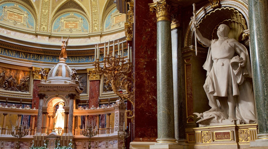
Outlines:
[[[20,125],[20,127],[15,126],[15,127],[13,127],[11,135],[18,138],[18,142],[16,143],[16,148],[19,149],[20,148],[20,138],[28,135],[28,129],[26,126],[21,126],[21,125]]]

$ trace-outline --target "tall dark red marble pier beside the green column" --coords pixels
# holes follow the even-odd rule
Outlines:
[[[134,66],[135,130],[133,141],[157,139],[156,14],[149,10],[152,0],[135,0]]]

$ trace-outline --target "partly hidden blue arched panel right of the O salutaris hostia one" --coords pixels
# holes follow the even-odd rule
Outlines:
[[[111,9],[109,9],[109,11],[107,11],[105,17],[103,18],[103,32],[124,28],[125,22],[126,15],[119,13],[119,11],[116,9],[116,6],[113,6]]]

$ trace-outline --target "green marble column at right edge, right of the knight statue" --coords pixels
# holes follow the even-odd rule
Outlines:
[[[249,0],[250,50],[253,88],[258,118],[258,139],[251,147],[268,147],[268,1]]]

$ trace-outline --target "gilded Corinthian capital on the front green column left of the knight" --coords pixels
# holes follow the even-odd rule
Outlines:
[[[170,5],[166,2],[166,0],[161,0],[155,3],[149,4],[150,11],[156,11],[157,22],[166,20],[170,21]]]

